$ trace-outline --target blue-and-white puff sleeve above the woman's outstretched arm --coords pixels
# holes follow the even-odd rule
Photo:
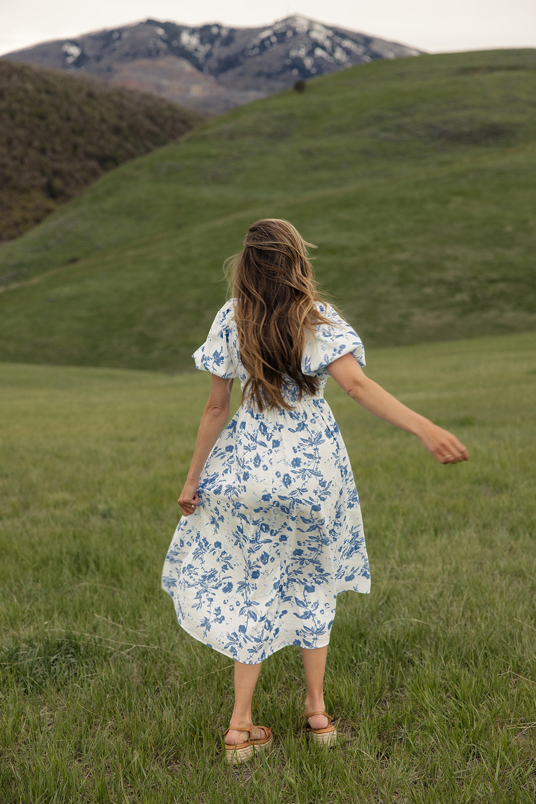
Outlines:
[[[318,310],[329,319],[330,323],[319,324],[317,329],[309,334],[305,342],[301,371],[313,376],[329,366],[329,363],[333,363],[333,360],[348,354],[354,355],[359,365],[363,367],[365,349],[358,334],[333,310],[333,307],[320,305]]]

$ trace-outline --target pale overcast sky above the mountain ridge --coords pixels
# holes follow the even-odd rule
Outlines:
[[[147,17],[253,27],[290,14],[430,52],[536,47],[536,0],[0,0],[0,54]]]

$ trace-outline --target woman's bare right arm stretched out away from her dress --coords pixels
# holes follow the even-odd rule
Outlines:
[[[432,421],[407,408],[391,396],[381,385],[369,379],[358,365],[354,355],[333,360],[326,371],[336,383],[363,408],[408,433],[420,438],[423,445],[440,463],[468,461],[469,454],[456,436],[434,425]]]

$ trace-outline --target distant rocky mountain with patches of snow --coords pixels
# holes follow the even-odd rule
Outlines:
[[[87,73],[215,114],[297,80],[418,54],[399,43],[293,16],[260,28],[219,23],[192,27],[147,19],[2,58]]]

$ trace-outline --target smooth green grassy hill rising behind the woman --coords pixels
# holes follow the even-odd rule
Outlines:
[[[366,345],[536,326],[536,51],[378,61],[234,109],[0,249],[0,359],[174,371],[252,220],[293,221]]]

